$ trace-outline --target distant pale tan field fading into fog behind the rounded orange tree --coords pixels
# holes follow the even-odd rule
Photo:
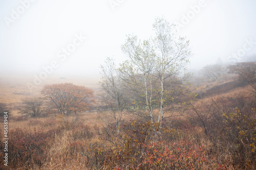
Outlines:
[[[12,108],[12,114],[17,115],[15,107],[19,105],[20,100],[30,96],[39,96],[40,90],[45,84],[69,83],[83,85],[95,90],[97,94],[97,83],[99,78],[61,78],[48,77],[40,85],[34,85],[34,79],[31,77],[0,77],[0,103],[8,104],[7,107]],[[33,86],[30,86],[30,85]]]

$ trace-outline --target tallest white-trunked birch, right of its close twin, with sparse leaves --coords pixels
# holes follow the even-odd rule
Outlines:
[[[156,71],[160,79],[160,111],[158,115],[158,123],[160,125],[164,118],[167,87],[172,85],[174,78],[180,79],[179,76],[189,62],[188,57],[190,56],[189,41],[185,38],[178,37],[175,28],[175,25],[170,25],[163,17],[157,17],[153,24],[153,29],[156,33],[155,44],[157,48]]]

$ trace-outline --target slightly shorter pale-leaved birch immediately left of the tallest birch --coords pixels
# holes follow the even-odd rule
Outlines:
[[[138,40],[135,35],[128,35],[122,45],[123,53],[129,58],[120,64],[119,77],[125,82],[125,86],[139,101],[134,103],[146,107],[147,112],[140,115],[149,117],[153,122],[154,94],[153,84],[156,79],[155,50],[152,40]]]

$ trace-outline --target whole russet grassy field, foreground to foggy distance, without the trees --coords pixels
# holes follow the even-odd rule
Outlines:
[[[7,103],[12,114],[8,119],[9,166],[6,167],[3,162],[2,140],[1,169],[256,168],[255,99],[249,86],[220,93],[217,87],[223,82],[216,83],[215,88],[211,88],[211,95],[194,103],[198,112],[206,113],[210,108],[208,106],[215,108],[210,111],[216,119],[207,120],[207,136],[193,110],[188,110],[181,117],[165,120],[161,133],[156,133],[158,124],[152,125],[124,111],[120,134],[117,134],[113,119],[97,111],[79,113],[78,117],[22,117],[12,107],[26,96],[39,95],[42,87],[38,86],[33,94],[28,94],[26,83],[29,81],[15,77],[1,78],[0,81],[0,102]],[[73,82],[97,91],[96,78],[49,78],[44,84],[64,82]],[[205,88],[201,90],[209,90]],[[239,111],[236,107],[240,107]],[[223,108],[226,114],[223,114]],[[158,111],[155,110],[154,114],[157,115]],[[1,139],[4,138],[3,132],[2,118]]]

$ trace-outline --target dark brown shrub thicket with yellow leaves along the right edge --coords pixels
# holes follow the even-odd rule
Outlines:
[[[208,139],[215,143],[212,152],[226,158],[231,156],[225,161],[235,169],[254,169],[256,101],[253,96],[238,93],[213,98],[210,102],[212,112],[204,123],[209,132]]]

